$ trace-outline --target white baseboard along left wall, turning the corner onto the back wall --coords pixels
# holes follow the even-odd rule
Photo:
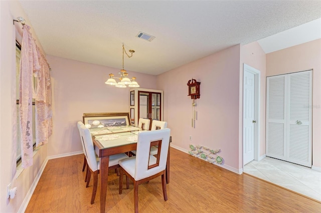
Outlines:
[[[36,186],[39,182],[39,179],[47,165],[47,162],[49,159],[54,159],[54,158],[59,158],[59,157],[66,157],[66,156],[71,156],[71,155],[76,155],[76,154],[82,154],[84,153],[83,151],[75,151],[75,152],[70,152],[70,153],[65,153],[65,154],[57,154],[57,155],[52,155],[52,156],[47,156],[47,158],[45,159],[44,163],[42,164],[41,168],[39,169],[38,171],[38,174],[36,175],[35,177],[35,180],[33,181],[33,183],[31,184],[31,187],[28,191],[28,193],[26,194],[26,197],[24,199],[24,201],[22,202],[19,210],[18,210],[18,213],[23,213],[26,211],[26,208],[29,204],[29,201],[31,199],[31,196],[32,194],[34,193],[35,189],[36,189]]]

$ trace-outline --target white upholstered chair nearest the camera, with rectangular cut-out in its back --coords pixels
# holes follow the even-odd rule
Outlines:
[[[134,208],[138,212],[138,184],[162,175],[164,200],[166,192],[166,163],[170,143],[169,128],[138,133],[136,155],[119,160],[119,194],[122,193],[123,173],[134,183]],[[150,154],[150,146],[157,145],[157,157]]]

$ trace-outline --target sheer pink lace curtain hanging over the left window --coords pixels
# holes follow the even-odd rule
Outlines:
[[[33,164],[32,98],[36,102],[36,145],[48,142],[52,134],[50,67],[30,32],[23,26],[20,60],[19,115],[21,158],[24,168]],[[33,75],[36,88],[33,87]]]

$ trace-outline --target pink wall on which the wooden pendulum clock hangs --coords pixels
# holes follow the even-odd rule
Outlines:
[[[191,127],[192,99],[188,80],[201,82],[197,99],[198,120]],[[189,150],[189,144],[221,148],[224,166],[239,172],[240,45],[222,50],[157,76],[164,90],[164,119],[173,145]],[[189,136],[192,136],[192,141]]]

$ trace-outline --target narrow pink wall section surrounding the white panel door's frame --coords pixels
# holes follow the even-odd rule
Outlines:
[[[241,70],[243,70],[243,63],[246,63],[261,72],[260,80],[260,138],[259,138],[259,159],[264,157],[265,154],[265,99],[266,99],[266,57],[265,52],[261,48],[260,44],[255,41],[241,46]],[[240,77],[243,83],[243,71],[241,71]],[[243,89],[240,88],[240,95],[242,95]],[[242,112],[243,104],[240,104],[240,111]],[[242,120],[242,118],[241,118]],[[242,129],[241,129],[242,131]]]

